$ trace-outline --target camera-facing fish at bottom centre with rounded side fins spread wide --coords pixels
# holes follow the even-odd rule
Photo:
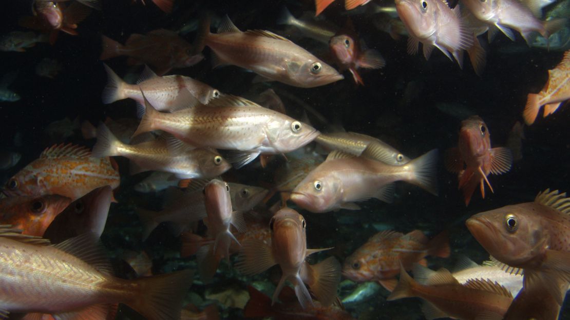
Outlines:
[[[330,248],[307,249],[307,223],[302,215],[290,208],[276,212],[270,220],[269,228],[271,244],[257,239],[245,241],[236,269],[243,274],[253,275],[279,265],[282,276],[273,293],[271,305],[276,302],[287,280],[293,284],[303,310],[315,306],[305,284],[311,288],[321,305],[331,305],[340,282],[339,262],[334,257],[328,257],[315,265],[306,261],[312,253]]]

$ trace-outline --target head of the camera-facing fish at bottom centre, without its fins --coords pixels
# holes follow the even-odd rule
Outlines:
[[[283,273],[298,269],[307,255],[307,223],[295,210],[283,208],[269,221],[271,245]]]

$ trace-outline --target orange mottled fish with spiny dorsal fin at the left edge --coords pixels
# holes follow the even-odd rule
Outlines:
[[[119,187],[116,163],[95,158],[85,147],[53,145],[6,182],[8,196],[58,194],[75,201],[101,186]]]

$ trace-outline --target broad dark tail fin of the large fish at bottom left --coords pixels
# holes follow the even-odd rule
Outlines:
[[[140,287],[138,296],[126,304],[146,319],[180,319],[182,303],[193,277],[192,270],[183,270],[136,279]]]

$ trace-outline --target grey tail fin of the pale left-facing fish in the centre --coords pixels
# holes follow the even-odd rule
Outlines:
[[[413,159],[408,163],[412,167],[413,178],[406,182],[437,195],[437,149],[433,149],[426,154]]]

